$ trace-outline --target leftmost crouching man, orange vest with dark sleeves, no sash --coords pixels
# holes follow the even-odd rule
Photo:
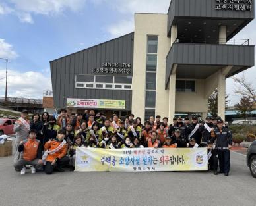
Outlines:
[[[40,140],[36,139],[36,130],[30,130],[27,139],[20,141],[18,152],[22,153],[21,158],[15,162],[15,169],[21,170],[20,174],[26,173],[26,165],[32,165],[31,173],[36,173],[36,168],[42,166],[42,147]]]

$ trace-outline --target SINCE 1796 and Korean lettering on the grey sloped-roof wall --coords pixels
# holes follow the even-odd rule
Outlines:
[[[128,63],[102,63],[102,68],[92,68],[92,73],[131,74],[131,72],[131,64]]]

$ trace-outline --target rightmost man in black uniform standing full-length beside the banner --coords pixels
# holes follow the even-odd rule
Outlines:
[[[217,120],[217,127],[214,128],[211,134],[216,140],[216,148],[218,151],[218,161],[220,163],[219,173],[224,173],[228,176],[230,172],[230,149],[232,148],[232,132],[224,127],[222,119]]]

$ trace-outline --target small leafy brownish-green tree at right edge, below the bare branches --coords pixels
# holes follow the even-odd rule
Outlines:
[[[234,107],[238,109],[238,113],[246,121],[247,116],[253,111],[253,101],[251,101],[250,97],[243,96],[240,99],[240,103],[237,103]]]

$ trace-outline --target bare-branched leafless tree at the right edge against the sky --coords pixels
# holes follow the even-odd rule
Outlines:
[[[252,82],[246,80],[244,72],[242,76],[232,77],[232,79],[238,84],[238,86],[236,86],[235,93],[249,97],[253,103],[256,103],[256,88],[253,86]]]

